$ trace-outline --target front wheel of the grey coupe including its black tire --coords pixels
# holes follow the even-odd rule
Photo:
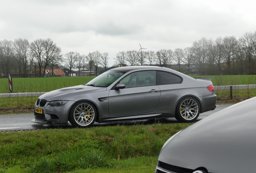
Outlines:
[[[69,112],[69,121],[75,127],[91,127],[96,120],[97,110],[87,101],[76,103]]]

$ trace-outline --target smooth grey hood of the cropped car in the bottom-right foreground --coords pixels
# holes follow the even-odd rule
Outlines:
[[[214,113],[181,131],[159,161],[211,173],[255,172],[256,97]]]

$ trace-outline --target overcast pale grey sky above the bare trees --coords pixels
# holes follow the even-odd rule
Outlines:
[[[0,0],[0,40],[51,38],[62,53],[186,48],[256,31],[252,0]]]

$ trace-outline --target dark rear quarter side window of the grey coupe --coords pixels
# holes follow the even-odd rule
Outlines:
[[[182,82],[182,78],[168,72],[157,71],[157,85],[178,84]]]

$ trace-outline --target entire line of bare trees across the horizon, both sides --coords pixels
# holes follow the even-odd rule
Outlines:
[[[31,76],[31,71],[39,68],[39,76],[45,69],[107,68],[109,54],[99,51],[81,55],[78,52],[62,54],[60,47],[50,38],[29,42],[17,38],[14,41],[0,40],[0,72],[7,76],[8,70],[19,72],[20,76]],[[216,74],[256,74],[256,32],[246,32],[240,38],[235,36],[218,37],[215,40],[205,37],[194,41],[191,47],[161,49],[156,52],[129,50],[120,51],[114,57],[119,66],[162,64],[171,68],[172,64],[186,64],[188,72],[194,65],[202,75]],[[53,74],[53,73],[52,73]],[[79,73],[80,74],[80,73]]]

